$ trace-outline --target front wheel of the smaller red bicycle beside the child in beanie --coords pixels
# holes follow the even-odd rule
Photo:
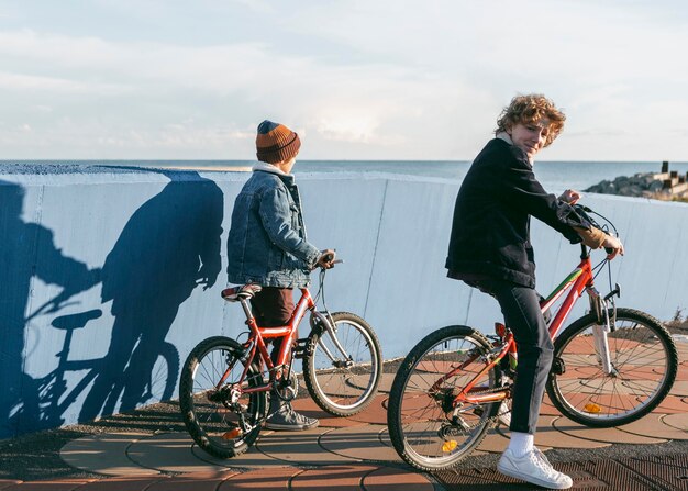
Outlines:
[[[351,416],[366,409],[375,399],[382,377],[382,350],[373,327],[348,312],[332,314],[337,341],[349,355],[346,360],[322,326],[308,338],[303,379],[313,401],[335,416]],[[331,359],[323,346],[333,354]]]

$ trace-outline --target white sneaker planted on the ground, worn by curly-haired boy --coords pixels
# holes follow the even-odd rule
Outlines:
[[[537,448],[533,448],[520,458],[507,448],[499,459],[497,470],[543,488],[568,489],[574,486],[572,478],[555,470]]]

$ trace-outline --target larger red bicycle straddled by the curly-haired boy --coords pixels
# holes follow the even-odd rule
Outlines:
[[[606,222],[586,207],[581,213]],[[588,215],[589,217],[589,215]],[[563,415],[593,427],[635,421],[655,409],[676,379],[678,355],[667,330],[651,315],[615,306],[618,284],[601,297],[590,249],[581,245],[580,264],[541,302],[558,309],[548,324],[554,362],[546,391]],[[566,297],[564,294],[568,291]],[[557,337],[576,301],[587,293],[588,314]],[[429,334],[402,361],[389,397],[387,422],[397,453],[421,470],[456,466],[475,449],[508,409],[518,364],[513,334],[496,324],[495,335],[452,325]]]

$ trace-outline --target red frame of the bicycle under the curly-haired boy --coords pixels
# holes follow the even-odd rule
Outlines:
[[[554,341],[566,321],[566,317],[573,310],[574,305],[578,301],[580,297],[582,297],[584,291],[588,291],[590,294],[591,306],[597,309],[597,305],[592,305],[593,302],[599,302],[599,293],[595,290],[593,284],[593,275],[592,275],[592,265],[590,263],[590,255],[585,245],[580,245],[581,254],[580,254],[580,263],[578,267],[574,269],[565,279],[562,281],[554,291],[541,302],[540,308],[542,312],[546,312],[558,299],[562,298],[566,291],[568,294],[564,299],[564,302],[558,308],[554,319],[550,323],[548,333],[550,337]],[[498,324],[499,325],[499,324]],[[510,397],[509,389],[490,392],[490,393],[478,393],[484,390],[484,388],[476,388],[476,384],[481,377],[488,373],[504,356],[509,353],[515,353],[515,341],[513,338],[513,333],[511,331],[504,330],[506,333],[502,337],[501,343],[496,344],[496,349],[490,353],[493,357],[490,362],[477,373],[468,384],[466,384],[462,391],[454,398],[452,402],[452,406],[462,406],[465,404],[482,404],[486,402],[499,402]],[[601,336],[601,342],[606,343],[607,337]],[[604,349],[601,347],[599,353],[602,354],[602,364],[606,370],[609,370],[609,348],[607,348],[607,356],[604,357]],[[441,384],[454,377],[459,371],[462,371],[466,366],[475,361],[477,356],[470,357],[468,360],[463,362],[460,366],[444,375],[440,380],[437,380],[431,390],[437,390]],[[609,372],[609,371],[608,371]]]

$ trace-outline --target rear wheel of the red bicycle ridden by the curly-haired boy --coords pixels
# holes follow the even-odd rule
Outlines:
[[[450,404],[487,366],[490,349],[490,342],[476,330],[452,325],[425,336],[401,362],[389,394],[387,425],[391,443],[406,462],[424,471],[450,469],[482,442],[495,425],[500,403],[465,409]],[[437,379],[464,362],[468,364],[464,372],[430,392]],[[501,370],[495,366],[477,387],[496,389],[500,380]]]

